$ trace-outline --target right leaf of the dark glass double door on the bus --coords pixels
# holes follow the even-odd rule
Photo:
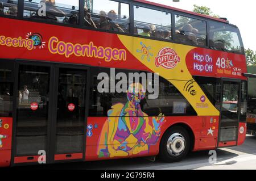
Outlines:
[[[70,66],[69,66],[70,67]],[[55,110],[56,129],[52,142],[54,161],[83,159],[85,151],[85,97],[87,71],[76,68],[56,69]]]

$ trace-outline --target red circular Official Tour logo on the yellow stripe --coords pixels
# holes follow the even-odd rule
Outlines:
[[[155,57],[156,67],[162,66],[166,69],[175,68],[177,63],[180,62],[180,57],[177,55],[174,49],[163,48],[158,52],[158,56]]]

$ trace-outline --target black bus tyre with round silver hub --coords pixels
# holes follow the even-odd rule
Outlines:
[[[183,127],[171,127],[160,142],[159,157],[164,162],[179,162],[189,153],[190,139]]]

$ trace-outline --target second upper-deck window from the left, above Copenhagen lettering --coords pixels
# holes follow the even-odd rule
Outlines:
[[[79,0],[65,2],[60,0],[24,1],[23,16],[47,22],[79,24]]]

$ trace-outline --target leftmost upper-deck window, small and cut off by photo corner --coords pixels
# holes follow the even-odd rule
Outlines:
[[[0,15],[17,16],[18,15],[18,1],[1,0],[0,1]]]

